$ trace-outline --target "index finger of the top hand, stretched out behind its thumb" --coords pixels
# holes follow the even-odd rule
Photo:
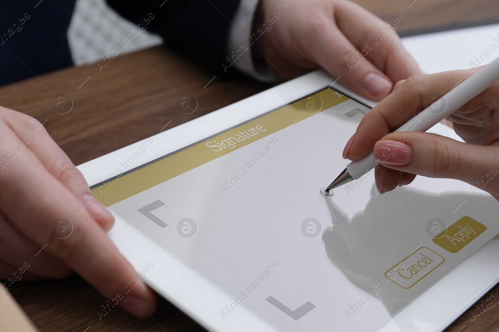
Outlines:
[[[402,13],[385,22],[356,3],[340,0],[336,3],[341,6],[335,11],[340,30],[393,83],[421,75],[418,64],[396,32],[397,25],[404,19]],[[341,14],[341,11],[347,15]]]

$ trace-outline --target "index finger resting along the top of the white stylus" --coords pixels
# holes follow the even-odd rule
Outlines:
[[[350,146],[346,157],[350,160],[364,157],[372,151],[374,143],[381,137],[396,130],[448,93],[463,80],[463,76],[469,77],[472,74],[473,70],[460,70],[405,80],[397,90],[364,115],[352,141],[357,149]]]

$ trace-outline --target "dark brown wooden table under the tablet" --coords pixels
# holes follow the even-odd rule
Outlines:
[[[401,35],[499,21],[497,0],[357,2],[385,20],[402,12],[404,20],[397,27]],[[115,58],[100,72],[93,64],[0,87],[0,105],[43,122],[72,161],[80,164],[268,87],[250,80],[214,78],[174,51],[155,47]],[[66,103],[62,110],[54,106],[61,96]],[[184,96],[198,100],[194,113],[185,114],[178,106]],[[71,106],[70,112],[61,114]],[[106,300],[78,276],[16,282],[9,290],[43,332],[204,331],[165,300],[160,300],[154,320],[138,320],[115,307],[99,321],[97,311]],[[499,295],[499,286],[446,331],[498,329],[499,301],[493,293]]]

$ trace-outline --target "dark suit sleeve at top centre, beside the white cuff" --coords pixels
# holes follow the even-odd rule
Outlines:
[[[229,28],[239,0],[106,0],[128,20],[146,26],[173,46],[226,77],[224,71]],[[140,26],[139,26],[140,28]]]

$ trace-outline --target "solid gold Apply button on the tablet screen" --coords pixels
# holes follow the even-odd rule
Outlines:
[[[463,217],[433,238],[433,242],[449,252],[463,249],[487,230],[487,227],[470,217]]]

